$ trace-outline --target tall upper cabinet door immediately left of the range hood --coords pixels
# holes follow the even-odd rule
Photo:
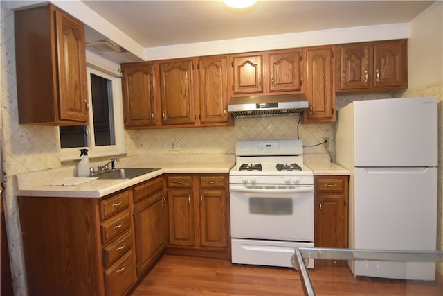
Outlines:
[[[199,60],[200,122],[228,121],[227,60]]]

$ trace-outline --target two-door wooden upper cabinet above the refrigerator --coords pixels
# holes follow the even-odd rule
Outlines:
[[[406,40],[338,46],[338,92],[389,92],[408,87]]]

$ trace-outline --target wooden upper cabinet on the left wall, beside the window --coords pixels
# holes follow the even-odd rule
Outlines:
[[[53,5],[15,12],[19,123],[88,121],[84,25]]]

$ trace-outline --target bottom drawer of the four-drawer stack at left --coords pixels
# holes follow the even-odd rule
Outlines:
[[[124,295],[134,284],[135,268],[132,251],[127,252],[120,260],[105,271],[105,294]]]

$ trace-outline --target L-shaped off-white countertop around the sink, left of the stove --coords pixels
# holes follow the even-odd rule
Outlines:
[[[62,198],[101,198],[129,186],[150,180],[164,173],[228,173],[235,164],[233,157],[218,157],[209,161],[199,157],[150,157],[138,155],[116,162],[116,168],[161,168],[132,179],[100,179],[70,186],[44,185],[64,177],[73,177],[75,166],[54,168],[16,175],[17,195]]]

